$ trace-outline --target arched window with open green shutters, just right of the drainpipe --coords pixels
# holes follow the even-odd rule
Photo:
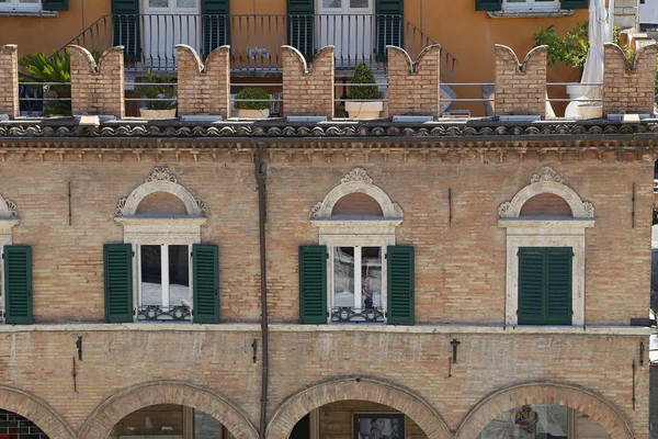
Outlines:
[[[402,211],[355,168],[310,211],[319,245],[299,248],[302,323],[413,324],[413,248]]]

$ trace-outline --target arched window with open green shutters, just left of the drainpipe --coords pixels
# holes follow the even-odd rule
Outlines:
[[[156,168],[115,214],[124,244],[104,248],[106,319],[217,323],[217,246],[201,245],[205,204]]]

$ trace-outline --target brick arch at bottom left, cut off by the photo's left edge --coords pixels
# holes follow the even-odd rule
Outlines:
[[[49,438],[76,438],[76,434],[68,421],[48,403],[30,392],[0,384],[0,408],[30,419]]]

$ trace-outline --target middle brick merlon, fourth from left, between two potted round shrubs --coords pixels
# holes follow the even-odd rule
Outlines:
[[[333,46],[324,47],[307,67],[292,46],[281,46],[283,58],[283,115],[333,117]]]

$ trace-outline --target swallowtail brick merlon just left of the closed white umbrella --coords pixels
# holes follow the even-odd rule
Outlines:
[[[545,115],[547,52],[548,46],[535,47],[519,64],[511,48],[496,45],[496,115]]]

